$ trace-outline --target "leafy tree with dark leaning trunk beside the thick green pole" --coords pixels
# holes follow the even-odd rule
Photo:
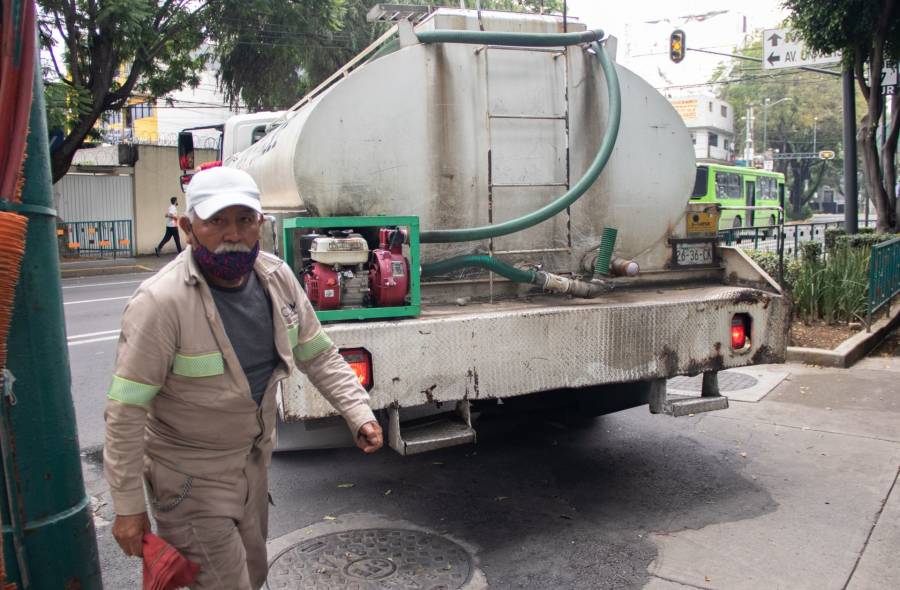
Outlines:
[[[65,128],[51,154],[53,181],[105,111],[135,93],[162,96],[198,83],[204,57],[201,24],[208,2],[186,0],[38,0],[39,30],[49,54],[50,114]],[[65,119],[61,122],[61,119]]]

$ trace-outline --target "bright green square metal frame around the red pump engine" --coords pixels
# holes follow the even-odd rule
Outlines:
[[[294,234],[298,229],[341,229],[402,226],[409,228],[409,305],[394,307],[356,307],[316,311],[320,322],[344,322],[374,318],[417,316],[422,311],[421,277],[419,273],[419,218],[415,216],[376,217],[289,217],[282,223],[284,260],[294,272]]]

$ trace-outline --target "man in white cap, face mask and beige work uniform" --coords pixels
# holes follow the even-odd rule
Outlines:
[[[190,247],[122,316],[103,456],[113,536],[141,555],[146,481],[159,536],[201,566],[192,588],[256,589],[266,577],[278,383],[295,366],[306,373],[366,453],[382,432],[291,269],[259,252],[253,179],[204,170],[187,200],[179,223]]]

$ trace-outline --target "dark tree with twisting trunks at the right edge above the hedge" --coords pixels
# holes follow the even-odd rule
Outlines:
[[[900,57],[898,4],[898,0],[785,0],[784,3],[792,11],[791,26],[802,35],[808,47],[822,53],[841,51],[845,67],[854,72],[866,101],[857,143],[863,159],[866,189],[878,212],[877,230],[880,232],[900,230],[895,161],[900,133],[900,96],[891,98],[894,116],[881,154],[876,141],[885,102],[879,83],[885,63],[897,63]],[[847,198],[852,196],[847,195]]]

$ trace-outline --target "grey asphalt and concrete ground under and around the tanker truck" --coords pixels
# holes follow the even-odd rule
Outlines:
[[[63,282],[84,474],[115,590],[140,587],[140,564],[110,534],[102,410],[124,298],[146,276]],[[790,365],[762,401],[695,417],[644,407],[575,425],[482,423],[477,445],[413,457],[279,454],[270,558],[385,527],[463,547],[477,574],[467,588],[897,588],[898,360]],[[381,587],[404,586],[360,586]]]

